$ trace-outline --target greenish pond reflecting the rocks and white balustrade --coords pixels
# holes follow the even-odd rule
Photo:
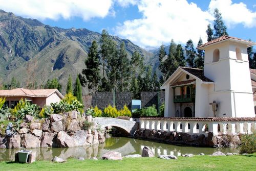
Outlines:
[[[106,141],[103,144],[92,146],[80,146],[74,148],[37,148],[31,150],[36,152],[36,160],[50,161],[55,156],[61,157],[64,160],[68,158],[78,157],[83,157],[85,159],[90,159],[92,157],[100,158],[104,153],[108,151],[120,152],[122,156],[131,154],[141,154],[144,146],[148,146],[149,148],[151,148],[152,151],[155,152],[156,156],[158,156],[159,154],[173,154],[177,156],[178,153],[189,153],[194,155],[204,153],[205,155],[207,155],[217,151],[222,151],[225,154],[228,152],[239,153],[238,148],[196,148],[191,146],[177,146],[126,137],[111,137],[106,139]],[[0,161],[14,161],[14,154],[16,151],[18,151],[18,149],[0,149]]]

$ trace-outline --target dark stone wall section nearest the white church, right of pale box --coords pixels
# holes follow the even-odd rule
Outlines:
[[[150,92],[145,91],[140,93],[140,99],[141,99],[141,108],[156,105],[156,108],[164,103],[164,91],[159,92]],[[159,103],[158,103],[159,98]]]

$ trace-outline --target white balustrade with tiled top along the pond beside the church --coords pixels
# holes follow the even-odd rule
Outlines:
[[[215,135],[252,133],[256,127],[255,117],[246,118],[185,118],[185,117],[141,117],[140,129],[176,131],[188,134]]]

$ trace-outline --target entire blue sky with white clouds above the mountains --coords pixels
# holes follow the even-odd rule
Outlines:
[[[15,6],[13,5],[15,4]],[[86,28],[130,39],[147,48],[169,44],[195,44],[212,25],[218,8],[230,36],[256,41],[256,1],[252,0],[0,0],[0,9],[36,18],[60,28]],[[212,26],[213,27],[213,26]]]

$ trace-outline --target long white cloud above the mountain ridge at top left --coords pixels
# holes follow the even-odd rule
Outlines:
[[[74,16],[89,20],[93,17],[114,15],[112,0],[0,0],[0,9],[16,15],[37,19],[60,17],[69,19]]]

